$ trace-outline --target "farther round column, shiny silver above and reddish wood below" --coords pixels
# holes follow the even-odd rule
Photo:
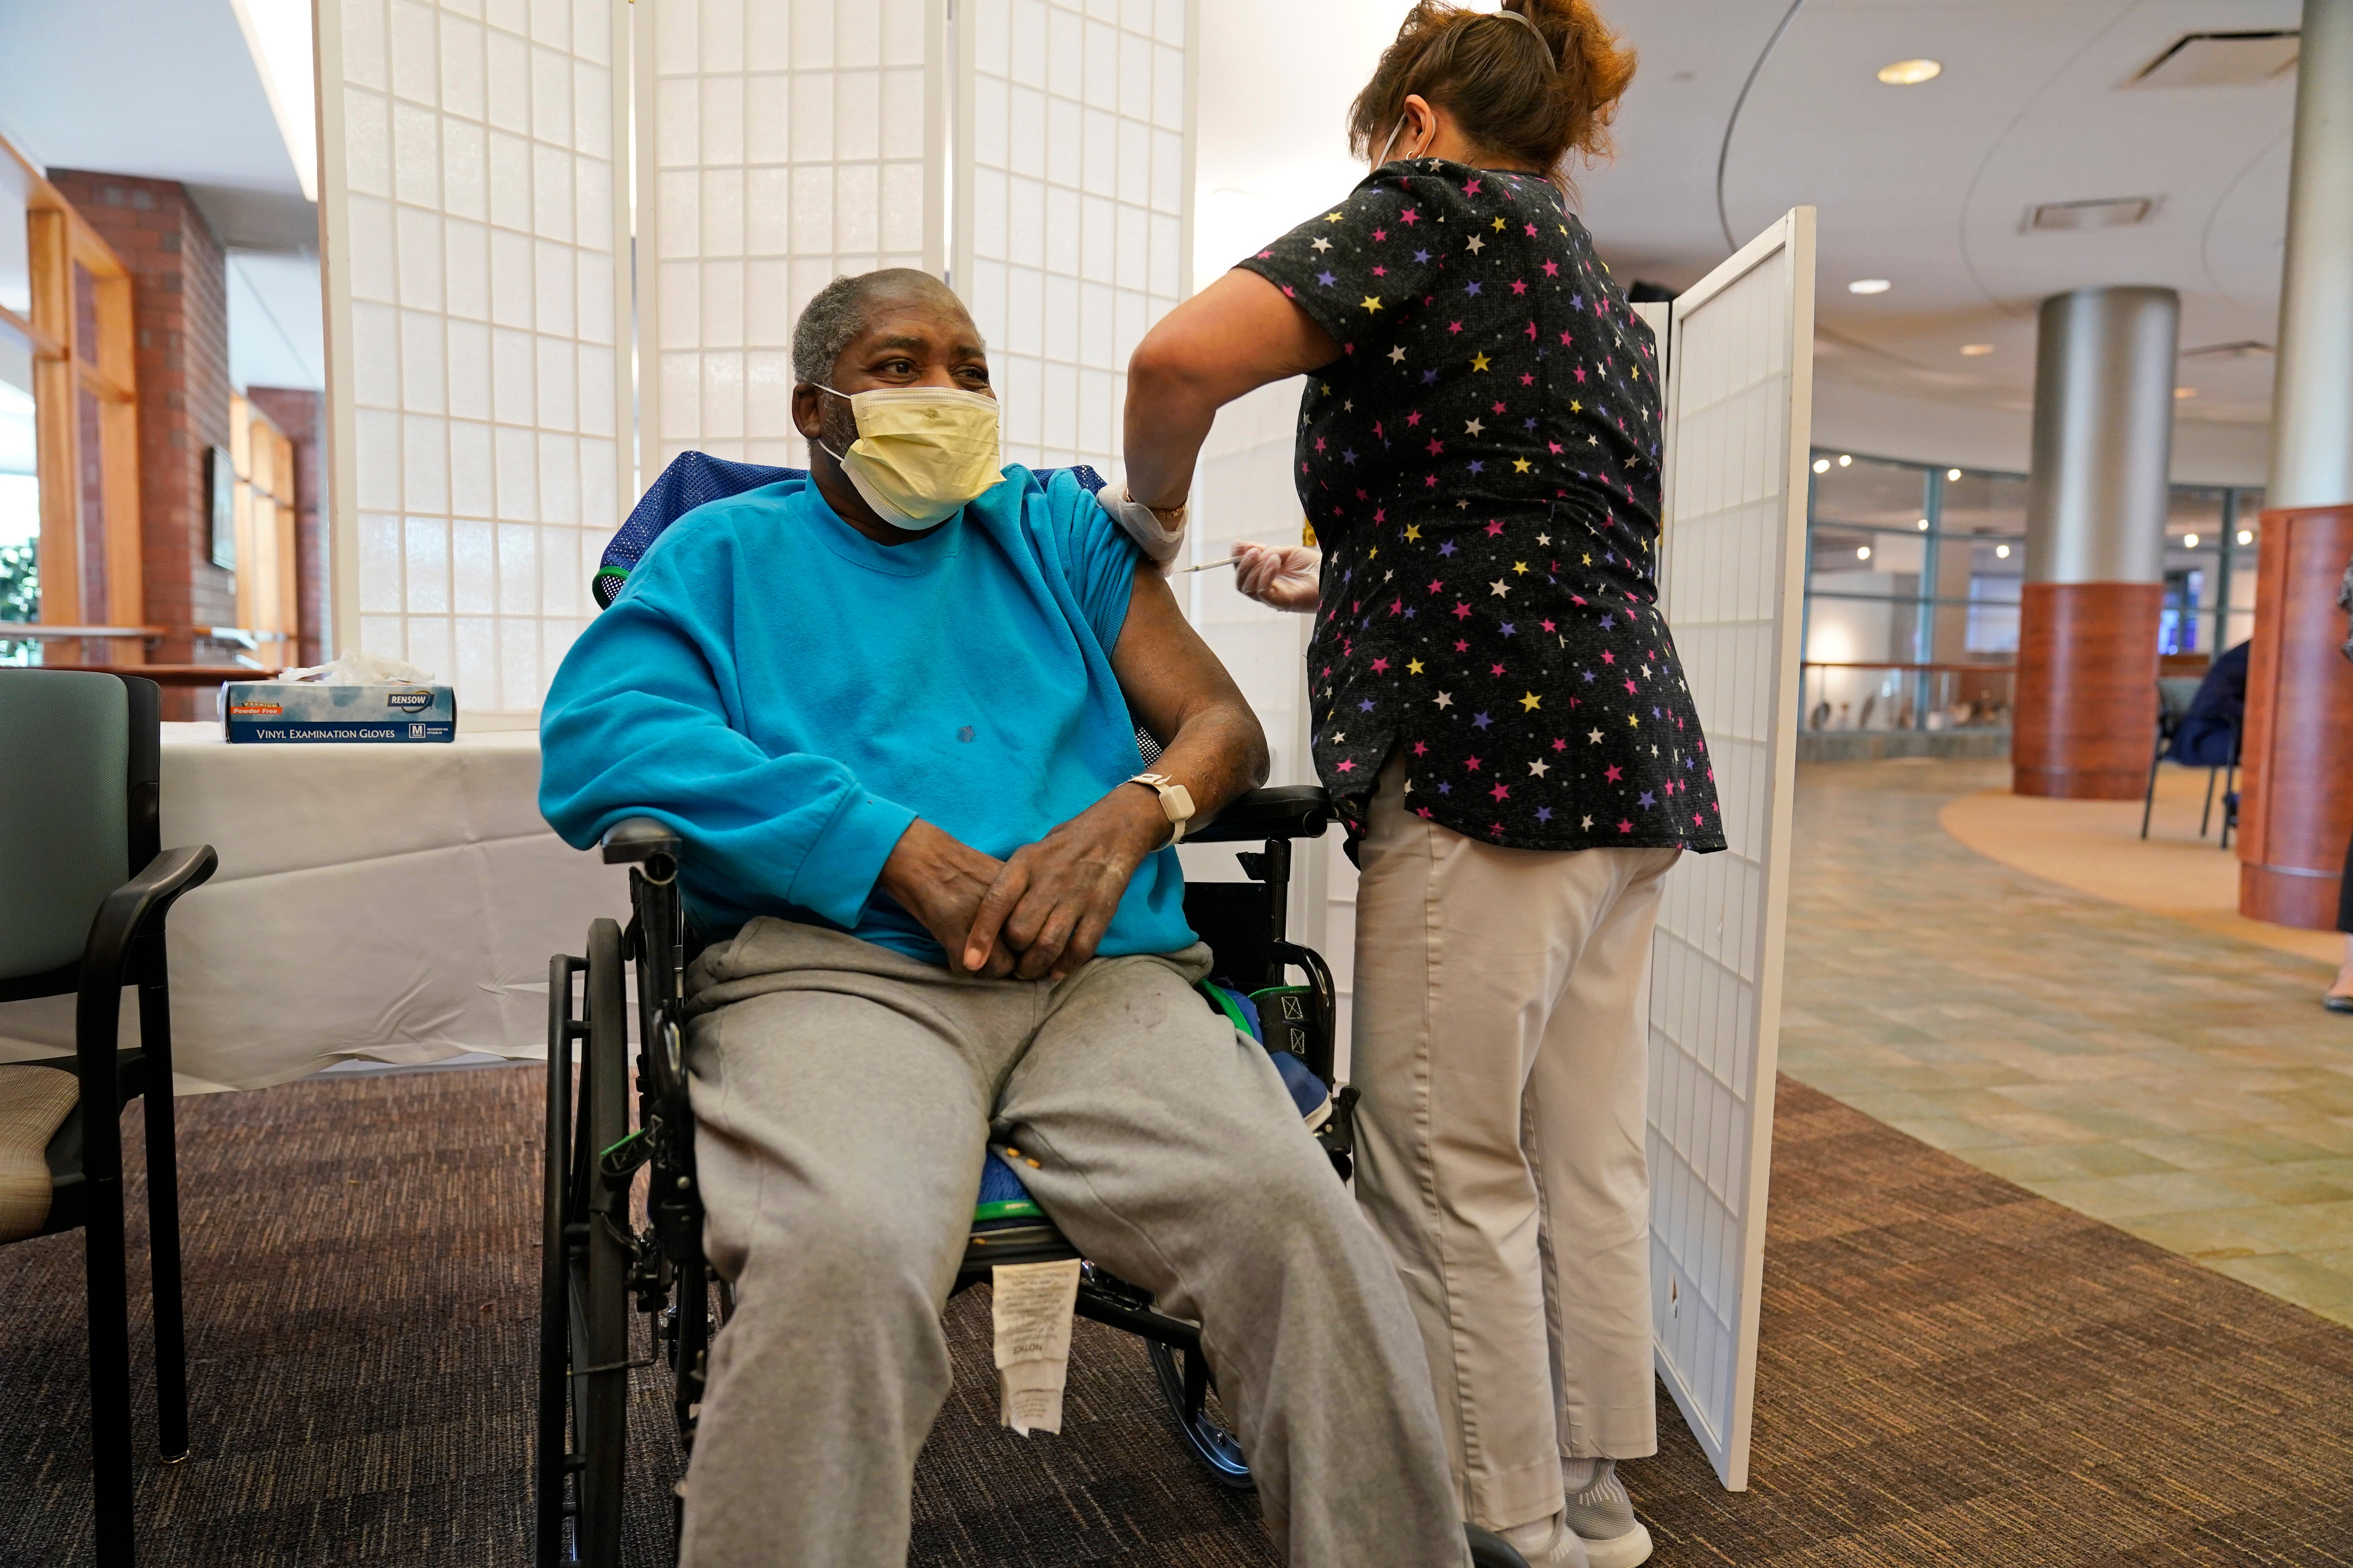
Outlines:
[[[2017,795],[2139,799],[2158,722],[2172,289],[2042,301],[2019,609]]]

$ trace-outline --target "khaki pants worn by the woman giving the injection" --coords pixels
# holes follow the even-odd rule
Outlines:
[[[1649,933],[1678,849],[1499,849],[1381,773],[1355,893],[1358,1201],[1421,1324],[1468,1519],[1657,1453]]]

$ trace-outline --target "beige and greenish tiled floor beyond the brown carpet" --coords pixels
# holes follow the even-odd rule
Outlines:
[[[1998,865],[1939,827],[2007,764],[1798,776],[1781,1070],[2353,1324],[2353,1018],[2329,971]]]

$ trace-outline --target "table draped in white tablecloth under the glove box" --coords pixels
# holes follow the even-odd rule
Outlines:
[[[169,922],[181,1093],[261,1088],[336,1060],[546,1053],[548,954],[628,875],[539,818],[539,736],[449,745],[228,745],[162,726],[162,842],[221,870]],[[122,1044],[139,1037],[125,1006]],[[0,1060],[73,1051],[73,997],[0,1004]]]

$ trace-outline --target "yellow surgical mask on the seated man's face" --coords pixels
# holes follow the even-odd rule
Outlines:
[[[955,517],[1005,475],[998,470],[998,400],[948,386],[882,386],[849,400],[859,440],[826,451],[894,529],[920,531]]]

